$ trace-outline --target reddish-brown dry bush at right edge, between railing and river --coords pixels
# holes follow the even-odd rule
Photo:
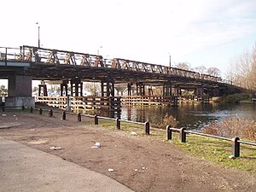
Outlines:
[[[220,137],[240,137],[256,142],[256,121],[233,117],[205,127],[202,132]]]

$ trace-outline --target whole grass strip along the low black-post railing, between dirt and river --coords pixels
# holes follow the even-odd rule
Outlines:
[[[115,121],[109,119],[99,119],[99,125],[110,130],[115,130]],[[131,131],[137,132],[137,137],[145,135],[144,125],[121,122],[121,131],[130,134]],[[166,131],[154,128],[150,125],[150,135],[160,141],[166,140]],[[256,147],[241,144],[241,157],[230,159],[232,155],[232,143],[211,137],[202,137],[192,134],[187,135],[187,143],[180,143],[179,134],[172,132],[172,140],[169,143],[177,145],[186,153],[196,158],[212,161],[215,164],[231,167],[246,172],[256,173]]]

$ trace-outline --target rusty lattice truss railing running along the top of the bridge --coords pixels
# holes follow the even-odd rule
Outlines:
[[[176,67],[166,67],[140,61],[131,61],[120,58],[113,60],[104,59],[102,55],[90,55],[59,49],[44,49],[23,45],[20,49],[0,47],[0,60],[32,61],[33,64],[44,63],[49,65],[71,65],[84,67],[107,67],[135,72],[160,73],[173,76],[181,76],[190,79],[204,79],[213,82],[230,84],[229,81],[218,77],[183,70]]]

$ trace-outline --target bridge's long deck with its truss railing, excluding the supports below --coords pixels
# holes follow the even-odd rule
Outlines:
[[[0,47],[0,78],[9,74],[32,76],[37,80],[71,80],[101,82],[111,79],[115,84],[137,83],[157,85],[164,82],[181,86],[223,87],[229,82],[207,74],[175,67],[166,67],[119,58],[104,59],[58,49],[20,46],[19,49]]]

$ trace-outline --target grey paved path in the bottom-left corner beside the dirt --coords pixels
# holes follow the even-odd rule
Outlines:
[[[1,192],[131,192],[121,183],[83,166],[0,137]]]

